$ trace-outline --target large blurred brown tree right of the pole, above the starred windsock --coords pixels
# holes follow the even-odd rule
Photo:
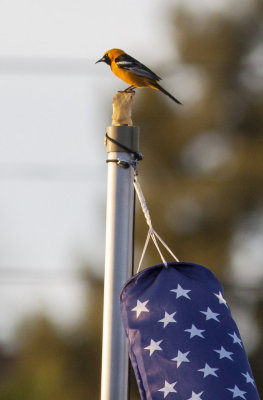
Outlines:
[[[236,224],[262,207],[263,198],[261,79],[256,90],[250,86],[256,79],[251,55],[263,36],[262,3],[251,2],[249,13],[235,19],[175,11],[181,85],[191,93],[188,82],[195,78],[201,89],[181,98],[182,107],[144,90],[134,116],[142,131],[140,177],[155,228],[180,259],[208,265],[221,279]],[[136,231],[140,246],[142,224]]]

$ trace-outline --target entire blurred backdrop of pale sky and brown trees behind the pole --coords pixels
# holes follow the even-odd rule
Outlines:
[[[94,63],[113,47],[183,103],[136,93],[142,189],[178,258],[223,282],[263,395],[262,17],[261,0],[0,1],[1,400],[100,396],[103,140],[127,85]],[[146,233],[138,207],[136,261]]]

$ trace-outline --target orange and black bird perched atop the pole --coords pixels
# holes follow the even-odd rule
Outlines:
[[[130,86],[124,90],[124,92],[130,92],[136,88],[149,87],[152,89],[160,90],[170,99],[175,101],[177,104],[182,104],[178,99],[172,96],[167,90],[165,90],[159,81],[162,79],[151,71],[148,67],[143,65],[140,61],[129,56],[120,49],[111,49],[106,51],[102,58],[96,61],[105,62],[111,67],[112,72],[124,82]]]

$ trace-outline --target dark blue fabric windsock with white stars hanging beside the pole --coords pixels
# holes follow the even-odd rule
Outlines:
[[[142,400],[259,400],[222,285],[192,263],[134,275],[121,314]]]

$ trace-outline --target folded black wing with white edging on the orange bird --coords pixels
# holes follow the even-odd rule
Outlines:
[[[115,59],[115,63],[118,65],[119,68],[130,71],[136,75],[153,79],[154,81],[160,81],[162,79],[153,71],[151,71],[148,67],[126,53],[121,54],[119,57],[117,57]]]

